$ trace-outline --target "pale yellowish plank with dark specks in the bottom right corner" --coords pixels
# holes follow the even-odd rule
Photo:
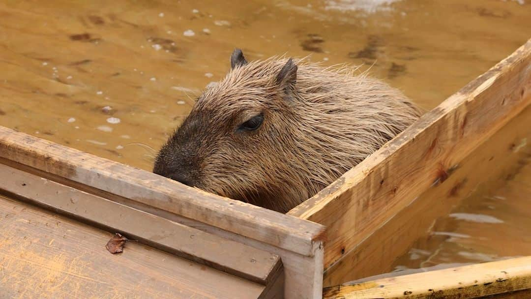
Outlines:
[[[531,289],[531,257],[333,286],[323,289],[323,297],[466,299],[523,289]]]

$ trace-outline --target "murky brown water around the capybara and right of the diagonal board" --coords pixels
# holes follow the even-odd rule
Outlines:
[[[224,76],[234,47],[248,59],[311,54],[324,65],[362,64],[430,109],[529,37],[524,0],[7,0],[0,3],[0,125],[150,170],[150,148],[160,147],[206,84]],[[522,234],[518,240],[530,243],[531,216],[518,206],[526,198],[500,199],[528,195],[530,169],[520,184],[456,211],[503,224],[450,216],[434,230],[439,242],[397,266],[520,254],[508,250],[516,245],[476,255],[463,246],[481,241],[485,227],[495,228],[489,237],[499,242],[491,243]]]

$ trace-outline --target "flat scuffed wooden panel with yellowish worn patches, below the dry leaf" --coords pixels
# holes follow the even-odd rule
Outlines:
[[[265,287],[0,197],[2,298],[259,298]]]

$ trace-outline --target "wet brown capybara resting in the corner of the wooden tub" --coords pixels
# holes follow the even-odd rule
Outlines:
[[[161,148],[153,172],[286,212],[421,114],[400,91],[346,67],[247,62],[239,49],[230,64]]]

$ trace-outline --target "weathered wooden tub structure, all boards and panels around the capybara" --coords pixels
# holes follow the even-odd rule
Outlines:
[[[531,40],[286,215],[0,127],[0,294],[525,298],[529,257],[345,283],[511,172],[530,102]],[[111,233],[138,242],[112,255]]]

